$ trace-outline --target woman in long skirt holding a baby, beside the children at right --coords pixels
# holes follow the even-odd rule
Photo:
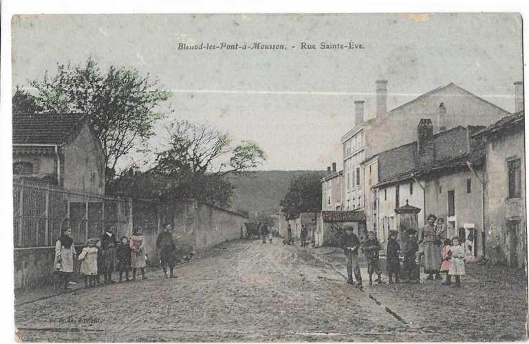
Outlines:
[[[437,233],[437,229],[433,225],[435,219],[437,219],[435,215],[428,215],[428,224],[422,227],[419,233],[419,244],[422,243],[422,250],[424,252],[424,272],[428,274],[428,280],[433,280],[433,275],[435,275],[435,279],[442,279],[439,275],[442,241],[440,235]]]

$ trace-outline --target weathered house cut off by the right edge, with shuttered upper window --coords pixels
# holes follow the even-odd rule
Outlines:
[[[523,93],[522,93],[523,94]],[[485,142],[484,222],[486,257],[515,268],[526,267],[525,116],[501,118],[473,136]]]

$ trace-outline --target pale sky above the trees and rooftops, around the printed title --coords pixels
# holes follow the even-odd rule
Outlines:
[[[286,49],[178,49],[254,42]],[[364,49],[301,49],[321,42]],[[186,119],[228,131],[234,144],[257,142],[268,155],[262,170],[340,169],[354,101],[374,111],[375,80],[388,80],[388,109],[455,83],[513,111],[521,52],[521,17],[508,13],[48,14],[12,19],[12,87],[91,56],[173,92],[166,105],[174,112],[158,123],[154,145],[163,125]]]

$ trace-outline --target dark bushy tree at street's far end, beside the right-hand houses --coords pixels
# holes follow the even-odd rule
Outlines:
[[[321,211],[321,177],[320,173],[307,173],[290,182],[280,203],[287,219],[295,219],[300,213]]]

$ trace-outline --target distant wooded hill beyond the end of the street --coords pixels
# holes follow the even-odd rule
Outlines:
[[[274,213],[281,209],[279,202],[285,197],[290,181],[305,173],[325,171],[255,171],[249,175],[228,175],[228,180],[235,185],[232,200],[234,210]]]

